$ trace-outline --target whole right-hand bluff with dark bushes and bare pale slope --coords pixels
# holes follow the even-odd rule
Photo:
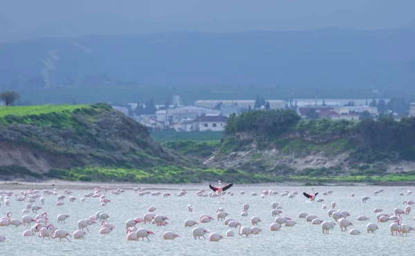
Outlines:
[[[300,119],[291,110],[252,110],[231,116],[225,134],[211,166],[286,177],[412,179],[411,172],[390,176],[387,170],[401,160],[415,161],[414,118],[395,121],[384,115],[356,122]]]

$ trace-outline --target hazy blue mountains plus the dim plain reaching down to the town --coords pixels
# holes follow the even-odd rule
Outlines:
[[[33,39],[0,44],[0,90],[18,90],[21,101],[32,104],[143,103],[151,97],[163,104],[171,95],[192,104],[291,93],[370,99],[373,90],[378,98],[412,97],[413,45],[415,32],[405,29]],[[47,84],[39,77],[45,69],[39,59],[54,67]]]

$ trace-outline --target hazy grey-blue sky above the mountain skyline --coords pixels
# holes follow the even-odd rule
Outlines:
[[[165,31],[415,28],[414,0],[0,0],[0,40]]]

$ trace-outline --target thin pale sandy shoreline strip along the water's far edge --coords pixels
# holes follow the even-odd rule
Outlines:
[[[145,188],[147,190],[175,190],[181,187],[186,187],[187,190],[199,190],[201,187],[208,186],[209,182],[199,184],[136,184],[136,183],[123,183],[123,182],[94,182],[94,181],[64,181],[58,179],[52,179],[48,181],[0,181],[0,190],[6,189],[50,189],[50,188],[71,188],[71,189],[94,189],[101,186],[109,186],[112,188],[123,188],[132,190],[133,188]],[[376,184],[371,183],[327,183],[327,184],[308,184],[304,182],[284,181],[273,183],[261,183],[261,184],[235,184],[238,188],[246,187],[291,187],[291,186],[415,186],[413,181],[387,181],[378,182]]]

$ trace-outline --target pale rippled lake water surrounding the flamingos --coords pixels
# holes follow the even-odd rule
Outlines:
[[[172,188],[171,186],[169,188]],[[90,233],[85,236],[85,239],[72,239],[72,242],[59,242],[58,239],[50,239],[42,241],[39,237],[23,237],[22,233],[28,229],[24,226],[7,226],[0,227],[0,234],[6,235],[5,242],[0,243],[1,255],[208,255],[211,253],[222,255],[392,255],[396,253],[411,254],[413,252],[412,244],[415,242],[415,233],[410,233],[407,237],[391,236],[389,231],[389,224],[377,223],[376,213],[373,213],[374,208],[382,208],[385,212],[393,213],[394,208],[405,208],[404,200],[413,199],[415,195],[406,196],[407,190],[412,190],[409,187],[383,187],[385,193],[374,196],[374,190],[377,187],[358,186],[358,187],[316,187],[315,190],[320,194],[317,198],[323,198],[322,203],[310,203],[301,195],[302,192],[310,192],[308,187],[238,187],[231,188],[234,191],[234,196],[225,196],[222,204],[217,203],[217,199],[210,199],[209,197],[197,197],[196,190],[199,188],[187,188],[187,195],[184,197],[175,197],[174,193],[178,193],[179,187],[174,189],[160,188],[158,191],[162,193],[160,196],[146,195],[145,197],[138,197],[138,193],[133,190],[127,190],[122,195],[108,194],[107,198],[111,199],[111,203],[107,206],[100,206],[99,199],[91,197],[86,198],[86,201],[79,199],[91,190],[73,190],[73,196],[77,197],[77,201],[70,203],[65,199],[64,206],[55,206],[57,197],[53,195],[46,195],[44,210],[47,211],[50,221],[56,224],[59,228],[73,233],[77,230],[77,221],[86,219],[90,215],[95,215],[98,210],[104,210],[108,213],[109,223],[114,224],[116,228],[109,235],[100,235],[99,224],[89,227]],[[261,193],[264,189],[276,190],[280,194],[284,190],[298,191],[297,197],[288,199],[288,197],[268,196],[261,199],[259,196],[253,197],[251,193]],[[0,187],[1,189],[1,187]],[[324,190],[331,189],[334,191],[333,195],[324,196],[321,193]],[[246,191],[246,195],[240,195],[239,191]],[[14,190],[19,193],[19,190]],[[63,190],[58,190],[60,195],[63,195]],[[172,193],[172,197],[163,198],[163,193]],[[356,197],[351,197],[351,193],[356,193]],[[405,196],[400,196],[399,193],[405,193]],[[371,197],[367,204],[362,204],[361,197],[368,195]],[[269,226],[274,221],[271,215],[271,203],[276,201],[284,208],[284,216],[291,217],[299,224],[293,227],[282,227],[279,231],[270,231]],[[327,215],[326,210],[322,210],[322,204],[330,206],[331,201],[337,203],[336,208],[348,210],[351,213],[353,228],[362,231],[360,235],[349,235],[348,232],[340,231],[340,227],[336,226],[334,230],[330,230],[329,235],[323,235],[321,226],[311,225],[305,219],[299,219],[300,212],[313,213],[323,220],[332,220]],[[415,200],[414,200],[415,201]],[[23,215],[31,215],[33,213],[21,213],[26,202],[16,201],[15,198],[10,199],[10,207],[2,204],[0,207],[0,217],[6,216],[10,210],[13,213],[12,218],[21,218]],[[38,202],[37,204],[40,204]],[[187,210],[187,205],[192,204],[193,212]],[[241,217],[242,204],[249,204],[248,217]],[[169,217],[169,225],[155,226],[152,224],[138,225],[138,227],[149,228],[154,231],[156,235],[151,235],[149,238],[151,242],[147,241],[127,241],[125,221],[133,219],[134,217],[142,217],[147,213],[149,206],[156,206],[156,214],[167,215]],[[243,226],[252,226],[250,224],[250,217],[258,216],[262,222],[259,222],[259,227],[264,230],[259,235],[252,235],[249,238],[226,237],[220,242],[209,242],[208,239],[197,239],[192,237],[192,228],[185,228],[183,223],[185,219],[194,219],[199,222],[199,215],[209,214],[216,219],[216,209],[219,207],[225,208],[229,217],[234,217],[242,222]],[[409,225],[414,225],[412,217],[414,212],[410,215],[403,215],[403,222]],[[39,213],[42,210],[39,210]],[[57,224],[57,215],[59,214],[71,215],[66,220],[67,224]],[[356,221],[358,215],[366,215],[371,219],[369,221]],[[369,222],[375,222],[379,226],[374,234],[368,234],[366,225]],[[201,224],[199,226],[205,227],[210,232],[220,233],[225,236],[227,230],[231,229],[225,226],[221,221],[211,221],[208,224]],[[174,231],[181,235],[174,240],[163,240],[163,233],[165,231]],[[237,229],[234,229],[237,233]],[[206,236],[208,238],[208,236]]]

